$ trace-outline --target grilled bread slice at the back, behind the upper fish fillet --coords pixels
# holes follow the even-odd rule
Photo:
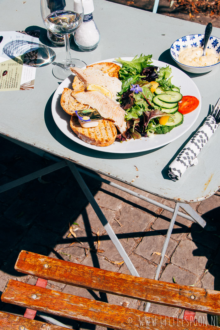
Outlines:
[[[96,63],[96,64],[92,64],[92,65],[87,65],[87,68],[94,68],[97,70],[102,70],[103,72],[108,73],[108,75],[110,77],[118,78],[118,71],[120,70],[121,67],[115,63],[102,62],[102,63]],[[84,89],[83,83],[77,76],[74,77],[72,86],[73,86],[74,91]]]

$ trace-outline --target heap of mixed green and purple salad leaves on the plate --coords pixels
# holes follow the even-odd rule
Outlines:
[[[129,131],[130,135],[135,139],[141,137],[140,133],[146,135],[149,130],[157,134],[166,134],[173,129],[173,126],[161,125],[159,118],[154,117],[149,121],[146,120],[146,114],[149,114],[152,110],[154,112],[156,110],[160,111],[160,107],[152,102],[155,94],[150,91],[151,81],[158,82],[159,86],[164,90],[171,90],[176,87],[171,82],[172,70],[170,66],[160,67],[159,71],[156,71],[157,69],[155,68],[157,67],[152,65],[151,58],[152,55],[146,56],[142,54],[139,57],[136,55],[131,61],[122,60],[120,57],[115,58],[116,61],[122,63],[122,67],[119,70],[122,89],[118,93],[118,101],[121,103],[122,108],[124,106],[125,120],[129,121],[130,124],[133,122],[133,128],[130,128]],[[143,70],[148,67],[154,68]],[[157,78],[154,78],[153,70]],[[146,71],[150,72],[150,74],[147,74]],[[128,106],[130,106],[129,109],[127,109]]]

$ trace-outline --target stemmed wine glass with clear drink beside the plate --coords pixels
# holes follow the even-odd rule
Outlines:
[[[83,21],[82,0],[41,0],[41,15],[48,30],[64,36],[66,59],[57,63],[53,75],[64,80],[70,75],[70,67],[82,68],[85,62],[72,59],[69,34],[76,31]]]

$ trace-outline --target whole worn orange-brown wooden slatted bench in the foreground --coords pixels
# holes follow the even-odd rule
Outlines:
[[[20,252],[15,269],[39,279],[36,285],[8,281],[1,300],[24,307],[26,312],[24,317],[0,312],[0,324],[4,325],[1,329],[4,330],[65,329],[33,320],[36,311],[119,330],[177,330],[180,326],[183,330],[219,330],[214,325],[203,325],[203,320],[194,320],[195,312],[220,315],[219,291],[105,271],[27,251]],[[47,280],[177,307],[189,312],[184,314],[183,319],[150,314],[47,289]]]

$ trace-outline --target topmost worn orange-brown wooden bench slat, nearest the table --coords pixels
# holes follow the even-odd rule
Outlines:
[[[21,251],[15,269],[25,274],[82,288],[220,315],[220,292],[167,283]]]

